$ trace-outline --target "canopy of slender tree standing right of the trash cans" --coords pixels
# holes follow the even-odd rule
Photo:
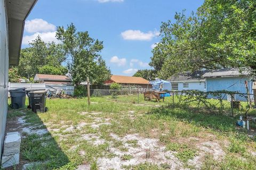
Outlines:
[[[110,70],[99,54],[103,49],[102,41],[92,39],[87,31],[76,31],[73,23],[66,29],[58,27],[56,37],[62,41],[66,56],[71,57],[68,70],[74,84],[86,81],[86,77],[95,84],[110,78]]]

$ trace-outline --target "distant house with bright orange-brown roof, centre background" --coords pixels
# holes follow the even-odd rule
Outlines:
[[[112,75],[110,80],[106,81],[106,85],[110,85],[111,83],[118,83],[122,86],[126,87],[139,87],[145,89],[151,89],[152,86],[148,80],[140,78],[140,77],[130,77],[124,75]]]

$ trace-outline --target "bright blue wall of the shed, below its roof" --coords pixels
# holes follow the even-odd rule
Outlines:
[[[206,78],[206,90],[217,91],[217,90],[228,90],[238,91],[246,94],[244,81],[248,81],[249,91],[252,94],[252,81],[249,77],[226,77],[226,78]],[[213,98],[213,97],[211,97]],[[223,96],[223,99],[227,99],[227,95]],[[245,101],[245,97],[235,95],[236,100]]]

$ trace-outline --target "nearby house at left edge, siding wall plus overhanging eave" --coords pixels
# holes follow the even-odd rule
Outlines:
[[[0,0],[0,155],[8,106],[8,69],[9,65],[19,64],[25,20],[35,3],[36,0]]]

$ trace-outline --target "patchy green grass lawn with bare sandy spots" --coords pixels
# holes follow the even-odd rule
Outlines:
[[[14,168],[256,169],[255,134],[235,125],[244,111],[231,118],[228,103],[212,114],[171,99],[48,99],[46,113],[10,110],[7,131],[22,133]]]

